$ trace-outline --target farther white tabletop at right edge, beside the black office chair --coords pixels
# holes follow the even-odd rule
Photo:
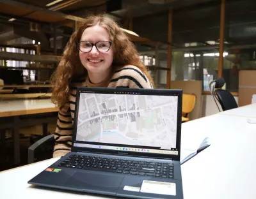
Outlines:
[[[256,103],[253,103],[252,105],[246,105],[244,107],[226,110],[220,112],[219,114],[256,118]]]

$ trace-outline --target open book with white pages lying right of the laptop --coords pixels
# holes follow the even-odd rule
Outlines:
[[[209,137],[204,134],[196,134],[191,131],[181,136],[180,164],[182,165],[193,158],[198,152],[209,147]]]

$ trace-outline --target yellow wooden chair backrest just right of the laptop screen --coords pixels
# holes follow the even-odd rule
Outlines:
[[[189,113],[192,112],[192,110],[195,108],[195,103],[195,94],[182,94],[182,115],[184,117],[188,117]]]

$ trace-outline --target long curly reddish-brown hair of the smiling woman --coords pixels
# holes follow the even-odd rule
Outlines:
[[[79,59],[79,43],[84,30],[92,26],[104,27],[113,42],[114,57],[112,67],[115,68],[126,65],[133,65],[140,68],[153,85],[153,80],[148,68],[140,61],[138,51],[134,44],[129,40],[125,32],[118,26],[113,17],[107,14],[90,15],[84,19],[77,30],[72,34],[68,41],[61,61],[51,77],[52,102],[58,107],[63,107],[68,102],[72,81],[78,77],[86,77],[87,70]]]

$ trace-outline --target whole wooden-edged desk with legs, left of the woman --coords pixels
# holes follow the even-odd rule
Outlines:
[[[20,120],[19,116],[29,114],[45,114],[49,112],[58,112],[58,108],[55,107],[50,99],[20,99],[0,101],[0,121],[3,117],[13,117],[12,122],[8,123],[4,122],[2,119],[3,122],[1,122],[0,131],[1,142],[3,143],[5,138],[5,129],[12,129],[15,164],[20,163],[19,128],[28,125],[44,124],[43,131],[45,134],[45,131],[47,133],[47,122],[56,120],[53,117],[50,117],[45,119],[30,119],[25,123],[25,121]]]

